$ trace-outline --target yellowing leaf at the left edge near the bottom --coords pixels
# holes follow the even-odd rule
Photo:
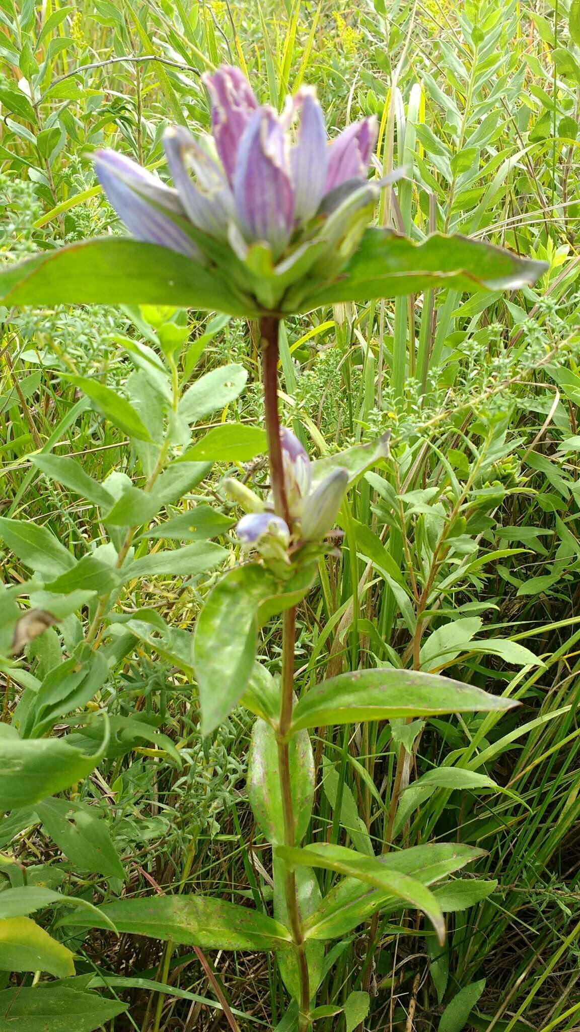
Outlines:
[[[5,917],[0,921],[0,971],[47,971],[66,978],[74,974],[73,957],[30,917]]]

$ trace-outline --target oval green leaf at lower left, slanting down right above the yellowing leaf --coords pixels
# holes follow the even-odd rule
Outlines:
[[[44,831],[76,870],[125,879],[106,821],[84,803],[46,799],[36,805]]]

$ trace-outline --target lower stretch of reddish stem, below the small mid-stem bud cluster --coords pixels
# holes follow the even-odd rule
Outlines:
[[[296,610],[288,609],[284,613],[282,639],[282,705],[280,708],[280,732],[278,741],[278,771],[282,794],[282,812],[284,816],[284,844],[296,844],[294,807],[292,803],[292,782],[290,779],[290,743],[287,740],[292,722],[292,704],[294,695],[294,642],[296,636]],[[296,875],[292,868],[284,865],[284,893],[288,910],[290,934],[298,961],[300,977],[300,1002],[298,1006],[298,1032],[308,1032],[311,1028],[308,1014],[310,1010],[309,965],[304,948],[304,936],[300,918]]]

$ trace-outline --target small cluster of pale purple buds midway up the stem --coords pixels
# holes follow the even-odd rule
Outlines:
[[[284,485],[290,526],[272,510],[272,499],[262,502],[237,481],[226,481],[228,492],[251,510],[239,520],[235,531],[245,549],[259,551],[264,558],[288,561],[290,543],[321,542],[331,529],[349,482],[340,466],[313,487],[311,460],[298,439],[286,427],[280,431]]]

